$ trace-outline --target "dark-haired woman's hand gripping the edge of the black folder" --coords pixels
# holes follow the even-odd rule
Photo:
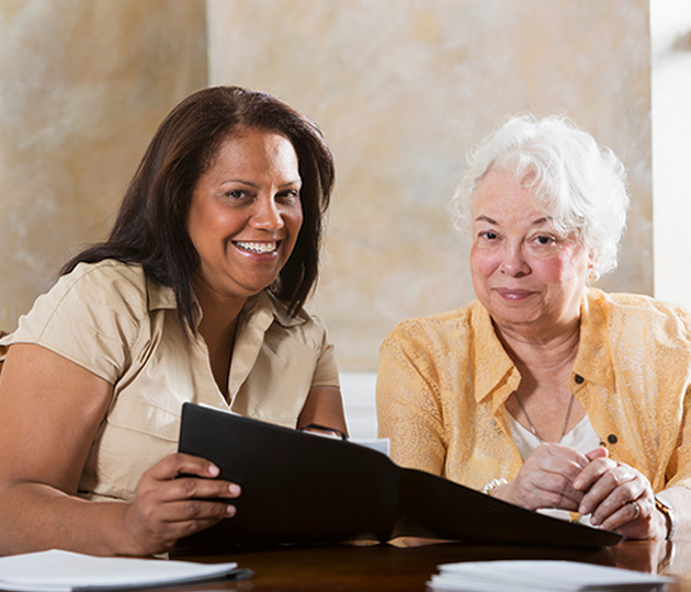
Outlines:
[[[180,453],[147,470],[124,515],[133,555],[167,551],[179,538],[235,515],[235,506],[222,500],[237,498],[240,487],[215,479],[218,473],[208,460]]]

